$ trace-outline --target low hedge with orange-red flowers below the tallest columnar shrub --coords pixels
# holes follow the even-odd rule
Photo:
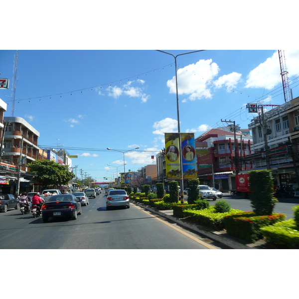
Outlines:
[[[228,235],[246,242],[254,243],[263,238],[261,228],[285,220],[285,214],[256,216],[254,212],[234,213],[224,217],[224,225]]]

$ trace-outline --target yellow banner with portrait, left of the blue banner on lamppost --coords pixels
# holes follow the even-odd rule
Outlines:
[[[180,179],[178,133],[164,133],[166,177]]]

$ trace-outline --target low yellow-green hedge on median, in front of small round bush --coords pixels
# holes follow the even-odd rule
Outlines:
[[[216,231],[224,229],[223,218],[231,213],[242,212],[241,210],[231,209],[228,213],[217,213],[215,206],[210,206],[203,210],[184,210],[184,217],[188,217],[188,220],[206,226]]]

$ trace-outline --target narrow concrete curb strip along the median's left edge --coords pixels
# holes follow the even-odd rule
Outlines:
[[[266,244],[266,242],[264,240],[259,240],[255,243],[247,244],[245,241],[242,241],[242,240],[239,240],[239,239],[229,236],[225,231],[220,231],[220,232],[213,231],[204,226],[194,224],[192,222],[188,222],[188,221],[184,220],[183,218],[177,218],[176,216],[173,216],[173,210],[158,210],[156,208],[151,208],[143,203],[136,202],[132,199],[130,199],[130,201],[132,203],[134,203],[135,205],[138,205],[148,211],[151,211],[152,213],[155,213],[164,218],[167,218],[182,227],[191,229],[197,233],[207,236],[208,238],[211,238],[217,242],[220,242],[220,243],[230,247],[231,249],[266,249],[265,247],[263,247]]]

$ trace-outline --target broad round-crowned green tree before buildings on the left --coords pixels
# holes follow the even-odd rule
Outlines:
[[[61,165],[53,160],[35,160],[29,168],[30,172],[35,174],[33,180],[43,186],[66,185],[75,177],[67,165]]]

